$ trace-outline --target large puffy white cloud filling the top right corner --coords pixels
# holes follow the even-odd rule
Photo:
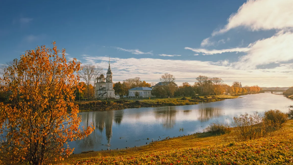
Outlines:
[[[250,30],[285,29],[293,27],[292,0],[248,0],[228,18],[224,28],[212,36],[244,26]]]

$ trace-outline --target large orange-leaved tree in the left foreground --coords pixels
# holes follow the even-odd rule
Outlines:
[[[10,91],[10,104],[0,103],[0,161],[44,164],[64,159],[73,149],[68,141],[82,139],[94,127],[80,128],[75,91],[81,91],[81,69],[76,59],[67,61],[45,46],[26,51],[0,78]],[[12,77],[12,78],[11,78]],[[70,111],[70,112],[69,112]],[[1,162],[0,162],[1,164]]]

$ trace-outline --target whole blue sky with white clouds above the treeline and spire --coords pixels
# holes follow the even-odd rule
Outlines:
[[[113,81],[293,84],[293,1],[0,1],[0,65],[37,45],[108,69]]]

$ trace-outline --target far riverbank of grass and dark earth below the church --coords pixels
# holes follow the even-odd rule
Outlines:
[[[76,102],[79,105],[79,111],[106,111],[121,110],[126,108],[141,107],[161,107],[161,106],[185,106],[198,104],[199,102],[214,102],[225,99],[238,98],[239,96],[216,95],[216,96],[193,96],[176,98],[138,98],[138,99],[119,99],[109,101],[81,101]]]

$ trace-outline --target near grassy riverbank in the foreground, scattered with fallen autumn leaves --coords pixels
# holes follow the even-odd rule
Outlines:
[[[229,134],[197,133],[130,149],[74,154],[57,164],[292,164],[292,145],[289,120],[282,130],[257,140],[235,142]]]

